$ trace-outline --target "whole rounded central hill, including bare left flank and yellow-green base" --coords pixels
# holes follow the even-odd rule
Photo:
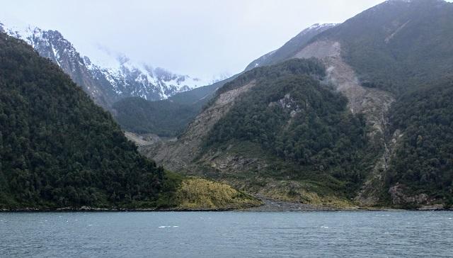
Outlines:
[[[374,156],[367,155],[372,145],[365,121],[348,111],[343,96],[321,85],[325,75],[314,60],[245,72],[217,91],[178,141],[142,152],[176,171],[252,194],[347,205],[365,177],[360,167]]]

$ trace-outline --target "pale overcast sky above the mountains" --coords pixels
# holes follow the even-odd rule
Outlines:
[[[211,79],[240,72],[314,23],[340,23],[382,0],[0,0],[2,13],[59,30],[82,53]]]

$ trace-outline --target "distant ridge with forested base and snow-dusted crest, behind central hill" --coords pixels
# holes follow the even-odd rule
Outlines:
[[[278,50],[248,64],[244,72],[258,66],[276,64],[285,60],[285,58],[294,54],[300,45],[334,26],[336,24],[315,24],[302,30],[301,33]],[[161,101],[125,98],[113,104],[113,113],[118,123],[125,130],[133,133],[152,133],[164,137],[173,137],[185,130],[190,120],[193,120],[200,113],[202,107],[210,101],[217,89],[238,76],[239,74],[236,74],[214,84],[175,94]]]

